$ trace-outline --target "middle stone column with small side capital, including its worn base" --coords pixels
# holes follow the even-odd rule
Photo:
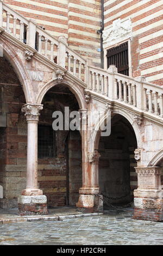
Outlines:
[[[83,121],[82,121],[83,123]],[[82,126],[84,129],[84,126]],[[83,165],[83,186],[79,189],[79,200],[76,206],[82,212],[102,212],[103,198],[99,194],[98,185],[98,162],[99,153],[87,153],[87,129],[82,129],[82,165]]]

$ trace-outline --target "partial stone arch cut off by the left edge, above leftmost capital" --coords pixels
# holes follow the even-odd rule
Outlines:
[[[4,57],[10,62],[12,68],[16,72],[20,83],[22,84],[23,92],[26,97],[27,103],[33,103],[35,96],[33,93],[32,81],[30,80],[27,70],[24,68],[24,64],[18,57],[17,53],[11,48],[7,42],[1,39],[3,44],[3,54]]]

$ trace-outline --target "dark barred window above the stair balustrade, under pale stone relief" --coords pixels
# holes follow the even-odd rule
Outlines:
[[[106,54],[107,66],[115,65],[118,73],[129,76],[128,42],[110,48]]]

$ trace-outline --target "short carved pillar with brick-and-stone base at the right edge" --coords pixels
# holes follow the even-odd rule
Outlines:
[[[138,188],[134,191],[134,219],[163,220],[161,167],[135,167]]]

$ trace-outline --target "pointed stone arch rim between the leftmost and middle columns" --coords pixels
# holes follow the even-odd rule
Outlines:
[[[41,104],[42,99],[45,96],[45,94],[48,92],[48,90],[56,86],[57,84],[59,84],[57,79],[51,80],[48,83],[46,83],[45,86],[43,86],[43,88],[40,90],[39,95],[37,95],[36,103]],[[80,88],[76,83],[74,83],[73,81],[71,81],[66,77],[64,78],[64,81],[61,82],[60,84],[66,86],[76,96],[80,109],[87,108],[83,88]]]

